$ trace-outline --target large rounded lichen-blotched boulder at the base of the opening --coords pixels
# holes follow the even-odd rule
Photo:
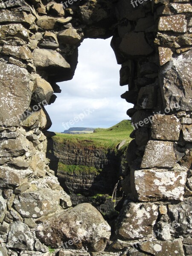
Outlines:
[[[105,249],[111,228],[99,211],[90,204],[79,204],[44,221],[37,228],[38,238],[46,245],[68,249],[83,248],[91,251]]]

